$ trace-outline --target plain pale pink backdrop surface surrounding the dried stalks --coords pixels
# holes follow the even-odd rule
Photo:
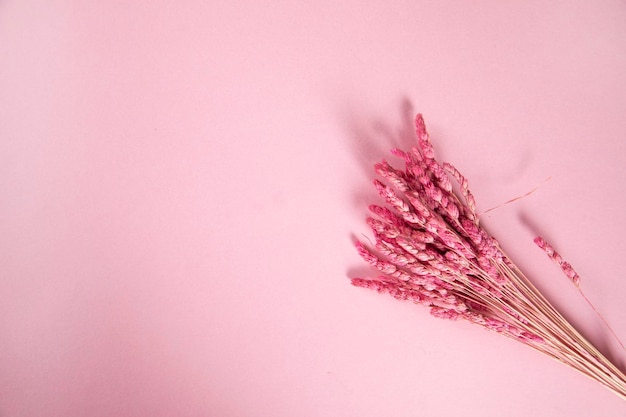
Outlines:
[[[622,368],[624,1],[0,1],[0,416],[624,416],[349,285],[425,115],[484,224]]]

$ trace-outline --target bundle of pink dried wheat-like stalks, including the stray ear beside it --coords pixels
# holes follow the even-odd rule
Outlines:
[[[561,361],[626,399],[626,376],[585,339],[511,262],[480,225],[468,182],[434,155],[424,120],[415,118],[417,146],[382,161],[374,185],[387,207],[372,205],[367,219],[375,243],[357,241],[361,257],[380,271],[353,278],[358,287],[387,292],[430,308],[432,315],[464,319]],[[453,190],[452,180],[458,184]],[[579,285],[571,265],[541,237],[535,243]]]

